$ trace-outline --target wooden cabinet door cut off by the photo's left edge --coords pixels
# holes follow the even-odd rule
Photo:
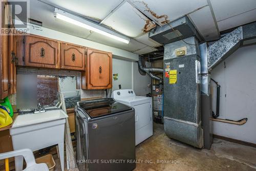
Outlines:
[[[1,9],[1,30],[4,28],[4,24],[7,21],[8,18],[8,8],[7,4],[3,4],[1,2],[0,5]],[[5,28],[4,28],[5,29]],[[5,97],[8,96],[8,35],[1,35],[0,36],[0,80],[1,80],[1,85],[0,85],[0,99],[4,99]]]

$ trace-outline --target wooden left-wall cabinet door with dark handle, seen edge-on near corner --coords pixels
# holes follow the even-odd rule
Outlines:
[[[9,94],[16,93],[16,34],[11,26],[8,36]]]

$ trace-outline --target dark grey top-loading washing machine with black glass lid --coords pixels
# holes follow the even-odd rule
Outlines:
[[[134,119],[134,109],[113,98],[77,102],[76,161],[79,170],[133,170],[136,163],[129,161],[136,160]],[[106,162],[117,159],[122,162]]]

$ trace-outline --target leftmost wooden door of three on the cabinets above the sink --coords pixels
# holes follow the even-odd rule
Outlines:
[[[58,42],[36,36],[25,36],[25,66],[59,68]]]

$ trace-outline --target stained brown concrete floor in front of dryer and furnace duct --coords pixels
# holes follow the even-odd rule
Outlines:
[[[59,160],[54,158],[55,170],[60,170]],[[254,147],[214,139],[210,150],[197,149],[169,139],[164,134],[163,125],[156,123],[154,135],[136,146],[136,159],[139,163],[134,171],[256,170]]]

